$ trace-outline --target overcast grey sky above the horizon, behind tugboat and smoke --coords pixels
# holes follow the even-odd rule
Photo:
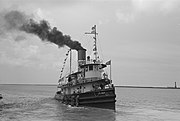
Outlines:
[[[11,10],[47,20],[79,41],[87,55],[93,39],[84,33],[97,25],[98,53],[112,61],[115,85],[180,86],[179,0],[0,0],[0,26]],[[56,84],[67,51],[32,34],[0,29],[0,84]]]

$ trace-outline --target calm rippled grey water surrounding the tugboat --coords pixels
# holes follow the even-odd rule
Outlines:
[[[180,121],[180,90],[116,88],[116,112],[70,107],[56,86],[0,85],[1,121]]]

